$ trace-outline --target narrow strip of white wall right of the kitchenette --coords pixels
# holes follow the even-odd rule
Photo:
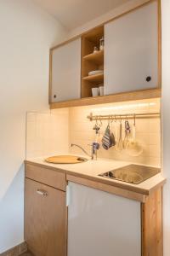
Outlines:
[[[170,255],[170,0],[161,0],[162,11],[162,111],[163,172],[167,184],[163,190],[164,256]]]

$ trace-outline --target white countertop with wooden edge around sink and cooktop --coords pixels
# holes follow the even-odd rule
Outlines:
[[[80,164],[50,164],[45,161],[45,158],[40,157],[36,159],[27,159],[26,162],[30,162],[37,165],[47,166],[54,170],[60,170],[66,172],[66,174],[74,175],[77,177],[85,177],[88,179],[96,179],[101,183],[108,183],[109,185],[122,187],[127,190],[137,190],[139,193],[144,195],[150,195],[153,189],[157,186],[162,185],[166,182],[166,179],[162,177],[161,173],[156,174],[153,177],[145,180],[139,184],[125,183],[118,181],[116,179],[110,179],[107,177],[100,177],[99,174],[103,172],[109,172],[122,166],[128,166],[133,164],[131,162],[108,160],[108,159],[98,159],[98,160],[88,160]],[[156,166],[155,166],[156,167]]]

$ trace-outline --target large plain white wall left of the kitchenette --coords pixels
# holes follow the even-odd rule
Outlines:
[[[0,253],[23,241],[26,111],[48,109],[48,50],[65,29],[31,0],[0,1]]]

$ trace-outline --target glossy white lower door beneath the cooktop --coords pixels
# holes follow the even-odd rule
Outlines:
[[[68,186],[68,256],[141,256],[138,201]]]

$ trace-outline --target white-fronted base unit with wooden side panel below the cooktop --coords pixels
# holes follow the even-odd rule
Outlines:
[[[142,202],[98,188],[69,183],[67,255],[163,256],[162,188]]]

